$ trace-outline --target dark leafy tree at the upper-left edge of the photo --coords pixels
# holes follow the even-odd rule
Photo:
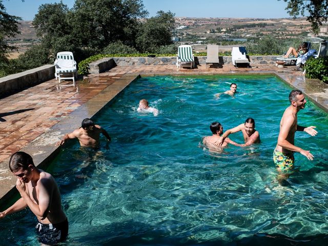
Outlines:
[[[22,18],[8,14],[2,2],[0,0],[0,64],[3,65],[8,61],[6,57],[8,51],[15,49],[5,42],[5,38],[14,37],[19,33],[18,20]]]

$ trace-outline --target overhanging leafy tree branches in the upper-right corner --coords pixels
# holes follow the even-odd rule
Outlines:
[[[278,0],[280,1],[280,0]],[[326,22],[328,18],[328,0],[283,0],[287,3],[287,13],[296,18],[300,14],[305,16],[305,11],[309,12],[306,20],[311,23],[314,33],[319,33],[319,26]]]

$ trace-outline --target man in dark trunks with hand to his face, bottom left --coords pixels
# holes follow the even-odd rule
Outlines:
[[[61,208],[55,179],[37,169],[32,157],[25,152],[14,153],[9,168],[17,177],[16,188],[22,197],[0,212],[0,218],[29,207],[38,220],[35,228],[40,243],[53,245],[64,241],[68,234],[68,220]]]

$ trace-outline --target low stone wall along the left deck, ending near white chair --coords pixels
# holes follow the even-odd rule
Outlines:
[[[0,78],[0,97],[36,86],[55,77],[55,66],[44,65]]]

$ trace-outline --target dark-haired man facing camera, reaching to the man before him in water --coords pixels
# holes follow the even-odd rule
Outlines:
[[[235,146],[249,146],[253,144],[258,144],[260,140],[260,134],[258,131],[255,130],[255,121],[253,118],[247,118],[244,122],[244,124],[240,124],[239,126],[229,129],[226,132],[222,134],[220,137],[217,145],[221,146],[221,143],[223,143],[224,139],[228,137],[231,133],[236,133],[236,132],[242,132],[242,135],[244,137],[244,144],[237,144],[236,142],[230,140],[230,144],[235,145]]]

